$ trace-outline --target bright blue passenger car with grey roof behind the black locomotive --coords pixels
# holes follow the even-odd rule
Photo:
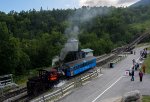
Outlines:
[[[65,75],[67,77],[74,76],[95,67],[96,58],[94,56],[89,56],[66,63],[66,66],[67,67],[65,68]]]

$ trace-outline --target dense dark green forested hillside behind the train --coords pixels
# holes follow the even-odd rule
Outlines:
[[[98,14],[82,22],[84,12],[90,11]],[[129,43],[150,24],[150,6],[0,12],[0,75],[51,66],[67,40],[66,29],[76,12],[80,12],[74,21],[80,48],[91,48],[95,55]]]

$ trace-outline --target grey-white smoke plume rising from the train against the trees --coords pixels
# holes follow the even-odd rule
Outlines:
[[[67,43],[60,53],[60,60],[64,60],[65,56],[69,51],[78,51],[78,34],[80,32],[79,26],[86,22],[90,21],[92,18],[97,15],[106,15],[109,10],[99,8],[99,9],[77,9],[73,16],[69,18],[70,26],[66,28],[65,35],[68,38]]]

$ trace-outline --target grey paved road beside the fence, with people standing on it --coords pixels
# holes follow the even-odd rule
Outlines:
[[[118,97],[132,90],[140,90],[144,95],[150,95],[150,75],[144,75],[143,82],[139,82],[138,72],[135,72],[135,81],[131,82],[129,76],[124,76],[125,70],[132,66],[132,59],[139,58],[137,48],[136,55],[128,55],[114,68],[103,69],[103,75],[96,78],[83,87],[73,91],[59,102],[103,102],[103,100]]]

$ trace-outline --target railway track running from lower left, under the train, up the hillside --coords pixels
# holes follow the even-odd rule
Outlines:
[[[111,61],[112,59],[117,58],[117,55],[122,53],[122,52],[132,50],[136,43],[139,43],[141,40],[143,40],[147,36],[149,36],[149,34],[145,34],[143,36],[140,36],[135,41],[133,41],[132,43],[130,43],[126,46],[116,48],[110,54],[104,54],[102,56],[97,57],[96,58],[97,67],[106,64],[107,62]],[[82,76],[84,76],[84,75],[86,75],[86,73],[84,73]],[[81,75],[79,75],[77,77],[81,77]],[[26,102],[26,101],[29,101],[28,96],[27,96],[27,87],[19,88],[15,91],[5,93],[3,96],[0,96],[0,101],[1,102],[3,102],[3,101],[4,102],[8,102],[8,101],[11,101],[11,102],[19,102],[19,101]]]

